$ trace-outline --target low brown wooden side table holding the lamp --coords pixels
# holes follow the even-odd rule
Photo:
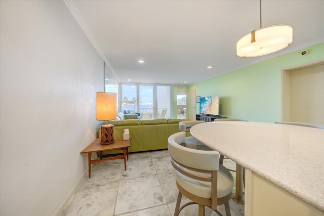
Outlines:
[[[126,154],[127,154],[127,160],[128,160],[128,147],[131,147],[131,140],[123,140],[123,138],[114,138],[115,142],[113,144],[108,145],[101,145],[100,138],[97,138],[93,143],[91,143],[87,148],[85,148],[81,154],[88,153],[88,162],[89,162],[89,178],[91,178],[91,164],[103,162],[107,160],[115,160],[115,159],[124,159],[125,164],[125,170],[126,170]],[[99,159],[99,160],[91,160],[91,154],[92,152],[102,152],[102,151],[108,151],[113,149],[123,149],[124,154],[117,156],[117,157],[110,157],[105,159]]]

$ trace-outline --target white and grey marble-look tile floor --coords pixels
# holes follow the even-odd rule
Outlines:
[[[235,163],[224,160],[235,169]],[[235,172],[233,172],[235,178]],[[175,171],[168,150],[131,153],[124,160],[95,164],[91,179],[86,176],[61,215],[173,215],[178,196]],[[188,202],[183,196],[182,203]],[[244,215],[244,204],[229,203],[232,216]],[[224,205],[218,206],[224,216]],[[180,215],[198,215],[198,205],[185,207]],[[205,215],[218,215],[206,207]]]

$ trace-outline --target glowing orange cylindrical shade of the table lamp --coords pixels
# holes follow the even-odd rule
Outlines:
[[[116,119],[117,94],[110,92],[97,92],[97,120],[106,121]]]

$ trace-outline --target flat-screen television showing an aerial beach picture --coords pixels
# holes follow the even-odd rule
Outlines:
[[[219,96],[200,97],[199,112],[219,115]]]

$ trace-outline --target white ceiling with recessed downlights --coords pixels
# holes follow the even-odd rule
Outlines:
[[[236,42],[260,28],[259,0],[63,2],[119,82],[192,84],[324,41],[323,0],[263,0],[262,27],[294,35],[255,58],[236,56]]]

